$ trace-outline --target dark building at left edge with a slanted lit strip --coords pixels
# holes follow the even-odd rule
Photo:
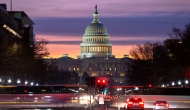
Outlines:
[[[34,22],[24,11],[8,11],[6,4],[0,4],[0,76],[15,78],[23,72],[23,56],[33,58]],[[29,48],[29,49],[28,49]],[[29,53],[30,52],[30,53]],[[26,55],[26,53],[29,53]],[[22,60],[22,61],[21,61]],[[19,70],[17,72],[16,70]],[[24,72],[23,72],[24,73]]]

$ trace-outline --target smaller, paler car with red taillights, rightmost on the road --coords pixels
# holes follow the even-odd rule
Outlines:
[[[167,101],[156,101],[153,105],[153,110],[169,110],[169,104]]]

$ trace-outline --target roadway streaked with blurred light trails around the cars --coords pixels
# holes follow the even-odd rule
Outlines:
[[[67,108],[83,110],[85,105],[77,102],[81,97],[89,98],[87,94],[0,94],[0,108]],[[83,98],[84,98],[83,97]],[[145,102],[145,110],[151,110],[156,100],[166,100],[170,104],[170,110],[190,110],[190,96],[169,95],[127,95],[120,96],[118,100],[109,101],[109,110],[123,109],[124,100],[130,97],[140,97]],[[66,109],[66,110],[67,110]]]

